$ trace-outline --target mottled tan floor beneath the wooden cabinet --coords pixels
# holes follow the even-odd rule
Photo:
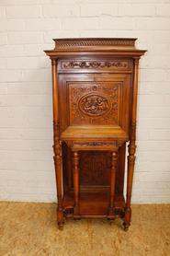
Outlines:
[[[0,203],[0,255],[170,255],[170,204],[132,205],[128,232],[117,219],[69,219],[56,225],[56,204]]]

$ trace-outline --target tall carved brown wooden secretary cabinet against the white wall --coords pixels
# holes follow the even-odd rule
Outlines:
[[[139,59],[136,39],[58,39],[51,58],[57,220],[123,219],[130,226]],[[127,194],[123,195],[129,144]]]

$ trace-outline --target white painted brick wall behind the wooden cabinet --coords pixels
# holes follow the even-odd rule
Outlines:
[[[54,202],[52,38],[137,37],[134,203],[170,202],[170,0],[0,0],[0,199]]]

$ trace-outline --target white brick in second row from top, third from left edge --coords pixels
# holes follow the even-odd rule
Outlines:
[[[98,29],[97,17],[77,17],[64,18],[62,20],[62,29]]]

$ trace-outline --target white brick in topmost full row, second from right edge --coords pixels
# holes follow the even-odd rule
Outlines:
[[[120,16],[135,16],[135,17],[145,17],[155,15],[155,6],[146,4],[137,5],[119,5],[119,15]]]

